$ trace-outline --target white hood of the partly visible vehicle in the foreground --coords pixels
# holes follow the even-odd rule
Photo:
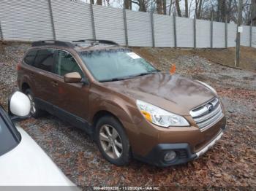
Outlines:
[[[0,157],[0,186],[69,186],[78,190],[20,127],[20,144]]]

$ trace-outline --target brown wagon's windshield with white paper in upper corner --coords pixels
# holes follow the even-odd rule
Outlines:
[[[99,82],[128,79],[158,70],[130,50],[96,50],[82,52],[81,58]]]

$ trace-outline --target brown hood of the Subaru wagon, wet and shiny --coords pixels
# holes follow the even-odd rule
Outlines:
[[[167,111],[181,115],[189,115],[194,109],[211,98],[214,93],[206,86],[179,75],[148,74],[105,85],[134,99],[146,101]]]

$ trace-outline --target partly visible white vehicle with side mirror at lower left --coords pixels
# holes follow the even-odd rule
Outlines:
[[[13,120],[26,118],[30,109],[29,98],[18,91],[9,99],[9,115],[0,105],[0,186],[69,186],[76,190],[41,147],[13,124]]]

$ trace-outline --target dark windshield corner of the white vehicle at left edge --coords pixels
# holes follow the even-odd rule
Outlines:
[[[9,152],[20,142],[20,134],[0,106],[0,156]]]

